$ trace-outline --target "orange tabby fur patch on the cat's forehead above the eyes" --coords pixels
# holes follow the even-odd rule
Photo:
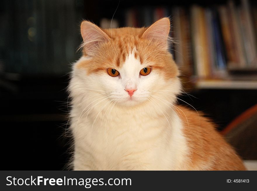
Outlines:
[[[101,43],[89,62],[81,62],[79,68],[87,68],[89,73],[106,72],[108,68],[119,71],[129,54],[141,64],[149,63],[153,70],[158,70],[166,80],[178,76],[178,69],[172,55],[158,43],[142,37],[147,28],[124,27],[119,29],[103,29],[110,37],[109,42]],[[84,52],[86,55],[86,52]]]

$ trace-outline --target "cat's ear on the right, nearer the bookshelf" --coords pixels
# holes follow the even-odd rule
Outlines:
[[[164,17],[160,20],[157,20],[154,24],[146,29],[142,37],[147,38],[150,41],[156,41],[159,43],[161,48],[169,47],[169,31],[170,31],[170,20],[167,17]]]

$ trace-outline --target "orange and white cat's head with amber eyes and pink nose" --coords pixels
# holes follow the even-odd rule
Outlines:
[[[84,83],[85,92],[103,93],[119,106],[166,97],[174,101],[171,96],[180,91],[180,82],[169,52],[169,31],[169,18],[148,28],[101,29],[82,22],[83,56],[74,66],[81,79],[77,83]]]

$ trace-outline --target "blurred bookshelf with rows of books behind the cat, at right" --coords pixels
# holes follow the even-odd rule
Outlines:
[[[110,3],[105,2],[105,6]],[[192,82],[187,86],[196,89],[256,89],[255,1],[181,1],[166,5],[163,1],[145,5],[142,2],[146,1],[139,1],[129,8],[119,5],[112,27],[147,27],[162,17],[170,17],[174,39],[170,51],[182,79]],[[109,16],[109,20],[104,18],[99,23],[110,28],[110,22]]]

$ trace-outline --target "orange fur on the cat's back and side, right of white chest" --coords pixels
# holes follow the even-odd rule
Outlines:
[[[177,106],[177,114],[183,121],[183,132],[190,148],[190,169],[246,170],[233,148],[216,131],[215,125],[200,113]],[[187,123],[188,121],[188,123]]]

